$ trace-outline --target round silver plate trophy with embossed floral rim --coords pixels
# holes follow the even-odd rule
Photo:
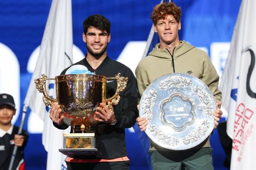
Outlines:
[[[146,134],[170,150],[187,150],[214,129],[216,101],[209,88],[187,74],[167,74],[154,80],[140,100],[139,115],[148,121]]]

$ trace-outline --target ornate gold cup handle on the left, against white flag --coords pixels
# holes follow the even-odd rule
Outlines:
[[[35,79],[34,82],[35,82],[35,86],[36,86],[36,89],[40,92],[40,93],[43,93],[44,94],[44,97],[42,98],[42,101],[44,101],[45,105],[46,106],[53,106],[54,102],[57,102],[56,99],[53,99],[51,98],[48,93],[47,93],[47,90],[46,90],[46,80],[55,80],[55,79],[51,79],[51,78],[47,78],[46,75],[42,74],[41,75],[42,77],[41,78],[38,78],[38,79]]]

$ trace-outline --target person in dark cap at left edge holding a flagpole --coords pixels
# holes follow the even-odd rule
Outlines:
[[[26,131],[18,135],[18,127],[11,124],[15,103],[10,94],[0,94],[0,170],[9,169],[14,145],[18,146],[12,169],[24,170],[24,148],[28,141]]]

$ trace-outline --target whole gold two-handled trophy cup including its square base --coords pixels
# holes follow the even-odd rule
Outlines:
[[[97,107],[104,103],[112,111],[112,106],[117,105],[119,93],[126,88],[128,78],[121,77],[120,73],[115,78],[106,78],[98,75],[60,75],[47,78],[41,75],[35,79],[36,88],[44,94],[42,100],[46,106],[53,106],[54,102],[60,105],[63,122],[73,127],[73,132],[63,134],[62,154],[73,157],[74,155],[94,155],[95,134],[89,133],[90,127],[96,125]],[[116,79],[117,89],[115,94],[106,99],[106,80]],[[55,80],[56,99],[51,98],[46,90],[46,80]],[[74,127],[79,126],[82,133],[74,133]],[[86,130],[87,133],[84,133]]]

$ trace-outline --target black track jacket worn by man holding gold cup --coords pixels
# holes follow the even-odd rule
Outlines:
[[[86,58],[73,64],[84,65],[91,72],[95,72],[96,75],[106,76],[107,78],[115,77],[119,72],[122,77],[127,77],[129,81],[124,91],[120,92],[120,101],[118,105],[113,106],[117,123],[115,126],[111,126],[105,123],[99,123],[95,127],[91,127],[90,132],[95,132],[96,137],[96,148],[99,154],[95,158],[101,159],[114,159],[123,156],[127,156],[125,147],[125,134],[124,128],[132,127],[136,118],[138,117],[137,99],[138,89],[137,82],[131,69],[120,62],[106,57],[96,70],[87,62]],[[71,65],[72,66],[72,65]],[[70,67],[71,67],[70,66]],[[70,68],[68,67],[68,68]],[[61,72],[64,75],[67,71],[66,68]],[[113,80],[113,79],[111,79]],[[106,98],[110,98],[116,91],[117,83],[116,80],[106,83]],[[57,126],[58,129],[67,129],[68,125]],[[71,130],[72,131],[72,130]],[[75,132],[79,132],[75,130]],[[81,131],[80,131],[81,132]],[[77,157],[86,158],[89,157]],[[92,159],[94,157],[90,157]]]

